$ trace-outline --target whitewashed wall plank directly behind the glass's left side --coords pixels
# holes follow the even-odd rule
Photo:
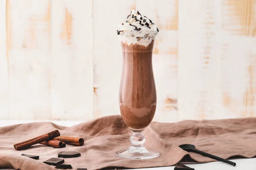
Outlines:
[[[115,4],[115,10],[106,6]],[[125,18],[134,8],[135,1],[93,0],[93,87],[94,118],[119,111],[119,84],[122,71],[122,51],[116,34],[116,26],[125,22]],[[118,15],[116,15],[118,14]],[[103,16],[111,17],[109,20]],[[104,30],[102,30],[104,26]]]

